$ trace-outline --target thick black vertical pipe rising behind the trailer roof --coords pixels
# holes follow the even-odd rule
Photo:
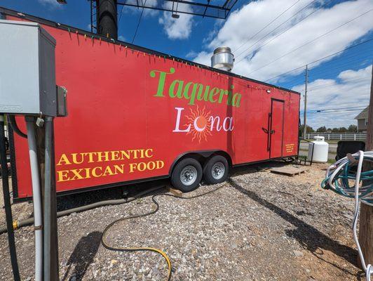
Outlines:
[[[116,0],[96,0],[97,33],[118,39],[118,15]]]

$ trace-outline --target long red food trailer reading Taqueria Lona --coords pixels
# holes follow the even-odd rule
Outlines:
[[[171,178],[183,191],[231,166],[294,157],[299,93],[31,15],[57,41],[57,192]],[[25,130],[25,122],[17,119]],[[11,131],[15,200],[32,197],[27,140]]]

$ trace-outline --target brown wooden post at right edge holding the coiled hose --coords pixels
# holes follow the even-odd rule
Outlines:
[[[373,67],[365,150],[373,150]],[[373,169],[373,165],[370,164],[368,169]],[[373,264],[373,207],[367,204],[361,204],[360,208],[359,242],[362,254],[364,254],[365,263]]]

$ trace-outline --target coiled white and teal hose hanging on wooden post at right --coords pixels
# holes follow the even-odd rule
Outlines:
[[[340,195],[346,197],[353,197],[355,199],[355,215],[353,216],[353,240],[358,247],[358,253],[362,268],[364,268],[365,276],[367,281],[370,281],[370,275],[373,274],[373,266],[371,264],[366,265],[364,255],[360,247],[357,233],[358,216],[359,216],[359,204],[368,204],[373,206],[373,170],[361,171],[363,162],[373,163],[373,152],[359,151],[353,155],[348,155],[339,161],[335,162],[326,172],[326,177],[321,187],[324,189],[330,189],[337,192]],[[356,164],[358,166],[356,167]],[[355,185],[350,186],[348,181],[355,180]],[[360,181],[369,181],[367,185],[360,187]],[[365,183],[364,183],[365,184]]]

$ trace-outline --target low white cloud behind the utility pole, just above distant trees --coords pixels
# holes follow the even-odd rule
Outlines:
[[[317,79],[308,84],[307,112],[309,110],[332,110],[335,108],[351,108],[369,104],[370,83],[372,81],[372,65],[360,70],[345,70],[336,79]],[[304,84],[294,86],[294,91],[302,93],[301,110],[304,109]],[[317,129],[356,124],[354,119],[360,111],[325,114],[310,113],[308,124]],[[303,118],[301,118],[303,120]],[[303,121],[302,121],[303,122]]]

